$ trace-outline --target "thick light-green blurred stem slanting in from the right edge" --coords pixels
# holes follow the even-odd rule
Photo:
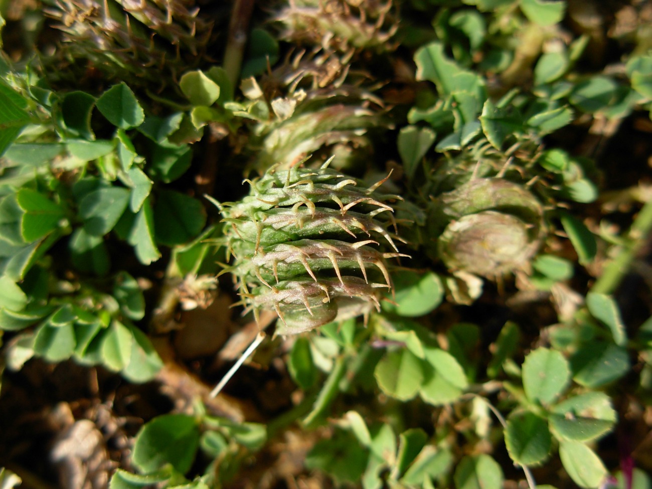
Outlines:
[[[645,203],[629,230],[629,243],[620,250],[617,256],[606,265],[602,275],[591,288],[591,292],[610,294],[615,291],[629,272],[632,261],[638,250],[645,243],[645,237],[652,231],[652,200]]]

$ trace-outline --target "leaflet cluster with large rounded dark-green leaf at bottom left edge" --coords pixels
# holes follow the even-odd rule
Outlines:
[[[267,441],[265,425],[233,422],[209,416],[203,406],[198,414],[168,414],[147,422],[134,443],[131,463],[138,473],[118,469],[110,489],[138,489],[153,484],[163,488],[209,489],[221,487],[237,474],[251,452]],[[213,460],[203,475],[184,477],[198,453]]]

